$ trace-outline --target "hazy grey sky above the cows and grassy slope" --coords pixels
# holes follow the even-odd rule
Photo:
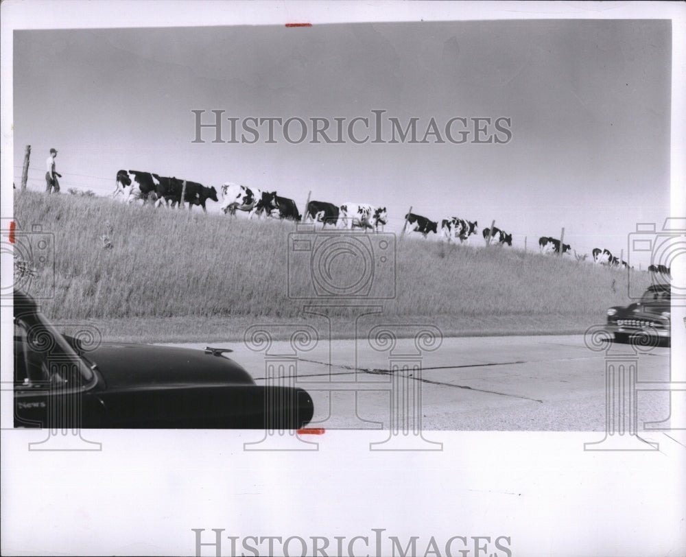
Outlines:
[[[669,213],[671,49],[670,22],[657,20],[16,31],[14,180],[32,145],[29,189],[45,189],[56,147],[64,190],[106,195],[117,170],[147,170],[276,189],[300,211],[310,190],[385,205],[390,230],[410,205],[434,220],[495,220],[530,248],[564,226],[578,252],[619,255],[637,222]],[[512,137],[250,145],[204,130],[192,143],[191,110],[332,125],[386,110],[417,117],[420,137],[432,117],[439,128],[505,117]]]

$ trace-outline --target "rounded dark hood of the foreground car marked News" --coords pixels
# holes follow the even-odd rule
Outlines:
[[[107,390],[255,384],[232,359],[190,348],[104,343],[84,356],[97,364]]]

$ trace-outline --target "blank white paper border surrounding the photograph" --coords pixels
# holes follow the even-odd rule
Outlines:
[[[14,29],[452,19],[672,19],[672,215],[686,215],[683,3],[10,0],[1,10],[3,217],[12,215]],[[3,308],[3,340],[10,317]],[[686,370],[678,331],[673,374]],[[8,362],[3,350],[3,370]],[[100,433],[104,451],[86,454],[29,453],[28,434],[2,432],[3,554],[190,554],[191,528],[348,538],[387,528],[439,544],[506,535],[512,554],[527,556],[684,553],[685,450],[661,435],[660,453],[591,454],[589,434],[454,432],[441,434],[442,453],[384,455],[366,450],[376,440],[366,434],[327,432],[313,458],[244,453],[230,432]]]

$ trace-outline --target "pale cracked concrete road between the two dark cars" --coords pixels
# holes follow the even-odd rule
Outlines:
[[[233,348],[258,383],[270,373],[278,384],[306,388],[316,409],[311,426],[327,429],[412,428],[421,420],[425,430],[605,431],[606,361],[635,354],[626,344],[591,351],[581,335],[447,338],[433,351],[418,351],[411,339],[392,351],[366,340],[297,352],[274,342],[266,356],[243,343],[212,346]],[[669,348],[637,358],[638,381],[670,380]],[[637,392],[639,431],[669,415],[667,390]]]

